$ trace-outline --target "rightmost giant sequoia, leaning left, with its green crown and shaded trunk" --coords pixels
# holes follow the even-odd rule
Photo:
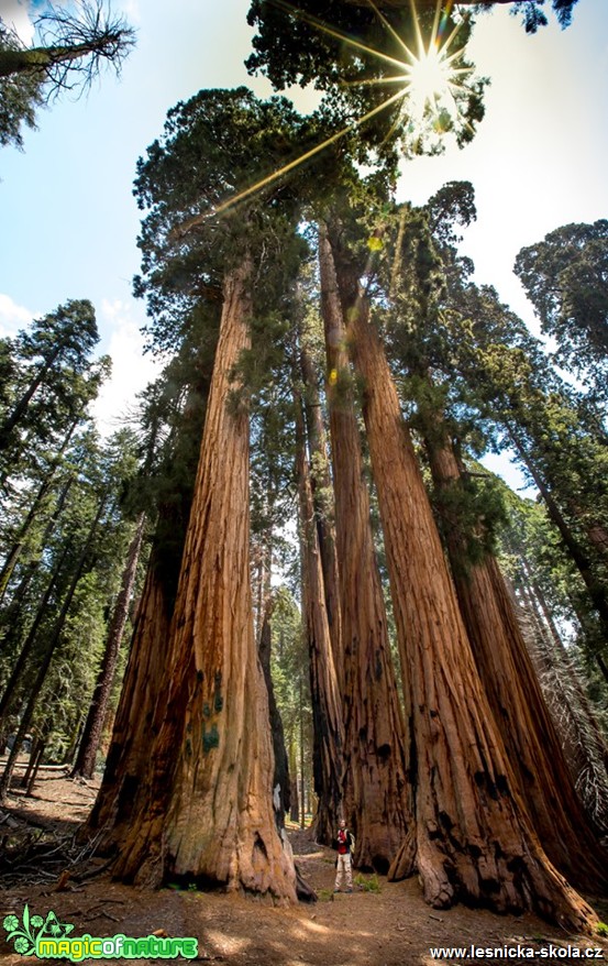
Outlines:
[[[439,252],[454,235],[456,216],[472,211],[468,186],[449,185],[430,199],[425,211],[401,212],[404,251],[399,277],[393,275],[395,344],[411,385],[418,387],[417,425],[421,430],[435,486],[435,501],[443,523],[444,541],[456,586],[460,610],[475,661],[505,742],[509,760],[543,847],[552,860],[579,886],[595,888],[601,881],[589,857],[597,843],[589,836],[587,816],[572,782],[559,737],[554,731],[532,668],[517,615],[491,552],[491,506],[466,476],[454,438],[466,436],[452,413],[471,405],[475,373],[456,395],[453,349],[442,331],[441,305],[445,287]],[[441,210],[441,221],[436,212]],[[434,216],[434,217],[433,217]],[[432,238],[435,223],[436,238]],[[443,244],[442,244],[443,242]],[[453,265],[449,267],[454,268]],[[453,273],[453,272],[452,272]],[[445,381],[441,386],[441,381]],[[458,406],[460,404],[460,406]]]

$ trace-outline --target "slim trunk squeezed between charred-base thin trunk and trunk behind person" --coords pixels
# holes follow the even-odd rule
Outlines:
[[[310,354],[300,347],[300,367],[303,381],[303,403],[306,413],[307,436],[310,447],[312,469],[310,482],[314,518],[323,571],[323,592],[325,611],[333,650],[333,663],[342,688],[344,669],[344,647],[342,641],[342,615],[340,612],[340,578],[338,572],[338,553],[335,548],[335,509],[333,506],[333,485],[328,457],[327,433],[321,413],[317,373]],[[331,494],[331,496],[330,496]],[[330,505],[331,504],[331,505]]]

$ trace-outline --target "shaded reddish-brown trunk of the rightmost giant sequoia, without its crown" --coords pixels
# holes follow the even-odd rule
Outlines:
[[[439,414],[427,414],[425,446],[438,494],[462,490],[462,475]],[[477,670],[534,830],[549,858],[579,888],[607,885],[608,857],[590,831],[545,705],[509,592],[493,556],[466,564],[466,535],[447,512],[445,542]]]

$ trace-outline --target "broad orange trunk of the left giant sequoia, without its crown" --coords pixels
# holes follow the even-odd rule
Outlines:
[[[295,901],[273,814],[268,702],[250,585],[248,417],[230,411],[248,345],[251,262],[224,283],[211,393],[175,604],[166,714],[115,872],[166,875]]]

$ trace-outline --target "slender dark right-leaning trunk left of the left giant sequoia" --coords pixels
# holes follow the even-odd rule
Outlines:
[[[135,583],[135,573],[137,571],[137,561],[142,548],[142,540],[145,529],[145,514],[140,514],[135,533],[131,540],[126,553],[126,563],[122,572],[121,586],[112,612],[108,635],[106,638],[106,650],[103,659],[97,674],[93,695],[85,728],[80,738],[78,755],[71,771],[73,777],[80,775],[84,778],[91,778],[97,761],[97,751],[101,740],[101,729],[106,720],[108,702],[114,683],[114,676],[119,659],[122,636],[129,616],[129,603],[133,593]]]

